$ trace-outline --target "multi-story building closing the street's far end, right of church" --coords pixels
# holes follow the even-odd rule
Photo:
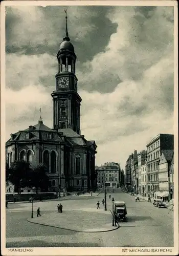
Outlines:
[[[105,163],[104,165],[96,166],[95,169],[98,173],[98,187],[104,187],[104,182],[106,187],[119,187],[119,164],[113,162]]]

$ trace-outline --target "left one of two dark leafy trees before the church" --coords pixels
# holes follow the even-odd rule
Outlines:
[[[12,164],[12,167],[8,169],[9,181],[15,185],[18,194],[20,194],[21,187],[28,186],[30,172],[30,163],[24,160],[15,160]]]

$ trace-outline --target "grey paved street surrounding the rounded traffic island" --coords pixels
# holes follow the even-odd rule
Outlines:
[[[43,226],[27,221],[31,217],[30,203],[9,204],[6,209],[6,246],[7,247],[172,247],[173,246],[173,211],[167,208],[154,207],[151,203],[141,200],[135,202],[121,189],[115,193],[107,193],[107,209],[112,211],[109,200],[114,197],[117,201],[125,201],[128,221],[120,222],[120,227],[108,232],[76,232],[55,227]],[[62,201],[35,202],[34,215],[38,207],[41,214],[57,211],[57,204],[63,205],[63,214],[77,209],[96,208],[104,193],[97,197],[70,198]],[[74,211],[75,212],[75,211]],[[81,225],[82,220],[76,218]],[[93,219],[91,220],[93,223]],[[111,216],[112,225],[112,216]]]

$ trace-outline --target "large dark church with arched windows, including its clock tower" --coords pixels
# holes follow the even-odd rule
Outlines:
[[[78,79],[75,74],[76,54],[70,42],[67,17],[66,33],[57,53],[53,99],[53,127],[38,123],[28,129],[11,134],[6,142],[6,162],[10,167],[14,160],[23,159],[36,166],[47,166],[50,191],[77,191],[97,186],[95,176],[94,140],[86,140],[80,131],[80,104]]]

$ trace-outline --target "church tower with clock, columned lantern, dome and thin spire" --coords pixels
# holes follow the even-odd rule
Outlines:
[[[65,10],[66,13],[66,10]],[[58,73],[53,97],[53,129],[70,128],[80,135],[80,102],[75,75],[76,54],[70,42],[67,15],[66,31],[57,53]]]

